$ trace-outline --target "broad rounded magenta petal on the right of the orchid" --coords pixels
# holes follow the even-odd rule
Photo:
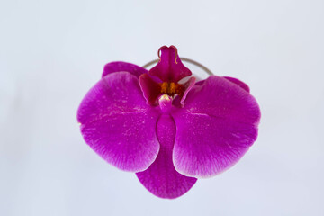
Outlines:
[[[183,175],[209,177],[233,166],[257,139],[255,98],[220,76],[193,86],[176,124],[173,160]]]

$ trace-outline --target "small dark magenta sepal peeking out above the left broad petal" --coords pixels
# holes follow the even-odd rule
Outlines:
[[[103,67],[103,76],[106,76],[108,74],[112,74],[114,72],[129,72],[130,74],[136,76],[139,78],[140,75],[148,73],[148,70],[146,70],[143,67],[139,67],[134,64],[130,64],[123,61],[113,61],[108,64],[106,64]]]

